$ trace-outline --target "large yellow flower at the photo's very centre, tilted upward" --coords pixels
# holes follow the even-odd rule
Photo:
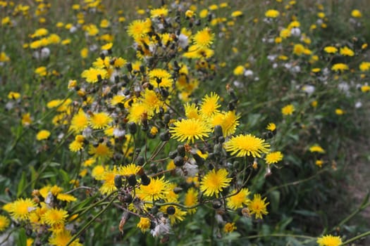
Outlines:
[[[194,143],[195,139],[203,140],[211,131],[200,119],[183,119],[173,124],[174,127],[170,127],[171,138],[180,142]]]

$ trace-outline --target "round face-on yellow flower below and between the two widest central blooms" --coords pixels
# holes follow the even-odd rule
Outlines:
[[[200,190],[206,196],[216,195],[218,198],[218,193],[220,193],[223,188],[229,186],[231,178],[228,178],[228,171],[226,169],[213,169],[206,174],[202,181],[200,182]]]

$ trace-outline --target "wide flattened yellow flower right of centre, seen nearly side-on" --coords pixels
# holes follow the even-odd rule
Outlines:
[[[231,155],[244,157],[252,155],[253,157],[261,157],[261,153],[268,153],[270,145],[265,143],[264,139],[257,138],[252,134],[233,136],[224,144],[226,151],[231,152]]]

